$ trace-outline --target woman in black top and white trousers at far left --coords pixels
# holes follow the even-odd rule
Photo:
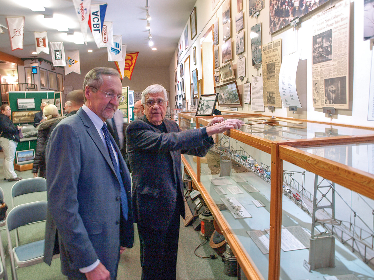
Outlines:
[[[4,152],[4,180],[19,181],[22,178],[18,177],[16,172],[14,172],[13,160],[19,142],[19,131],[22,127],[15,126],[12,121],[10,121],[9,116],[12,114],[12,110],[10,110],[9,105],[1,105],[0,113],[0,146],[3,148]]]

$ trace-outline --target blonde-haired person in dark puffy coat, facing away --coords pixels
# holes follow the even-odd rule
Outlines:
[[[46,177],[46,161],[44,157],[46,139],[49,134],[49,130],[56,121],[64,117],[59,117],[58,109],[55,105],[49,104],[43,109],[43,117],[46,119],[41,122],[38,127],[38,139],[36,142],[35,159],[33,166],[34,177]]]

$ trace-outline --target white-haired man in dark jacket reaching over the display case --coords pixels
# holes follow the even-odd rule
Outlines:
[[[213,134],[244,123],[214,118],[206,128],[181,131],[165,119],[167,100],[162,85],[147,87],[141,95],[145,115],[126,129],[143,280],[175,279],[180,215],[184,217],[181,153],[205,156]]]

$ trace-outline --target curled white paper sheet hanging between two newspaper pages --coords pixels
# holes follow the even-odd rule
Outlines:
[[[296,72],[299,59],[300,52],[283,56],[278,84],[283,107],[297,106],[297,108],[301,108],[296,91]]]

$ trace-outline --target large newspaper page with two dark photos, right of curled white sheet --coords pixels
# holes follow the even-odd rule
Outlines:
[[[313,16],[313,107],[349,108],[349,8],[343,0]]]

